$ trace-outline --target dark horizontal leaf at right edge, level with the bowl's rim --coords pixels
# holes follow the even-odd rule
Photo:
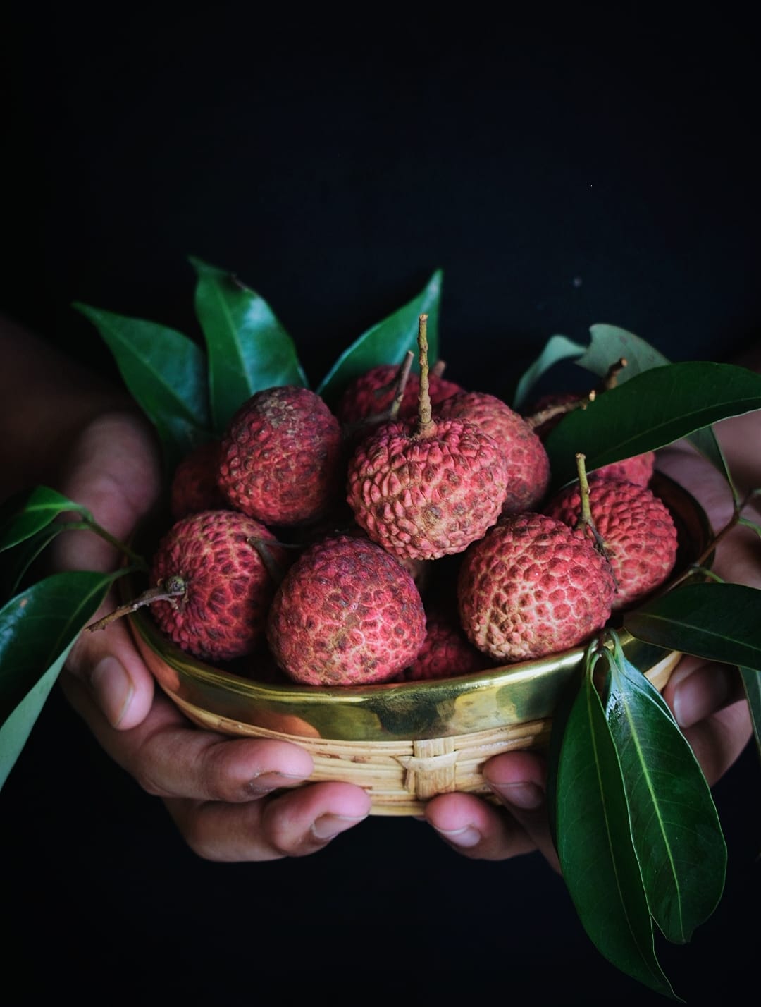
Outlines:
[[[647,643],[761,671],[761,590],[744,584],[681,584],[634,611],[626,629]]]

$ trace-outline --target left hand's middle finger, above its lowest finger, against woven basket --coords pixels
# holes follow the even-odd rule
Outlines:
[[[105,751],[154,796],[251,802],[295,786],[312,772],[312,758],[299,745],[201,730],[160,693],[144,720],[116,730],[79,679],[64,674],[60,684]]]

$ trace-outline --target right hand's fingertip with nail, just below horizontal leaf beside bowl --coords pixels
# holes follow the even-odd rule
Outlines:
[[[663,689],[663,699],[681,728],[692,727],[743,698],[742,679],[734,666],[689,655],[679,661]]]

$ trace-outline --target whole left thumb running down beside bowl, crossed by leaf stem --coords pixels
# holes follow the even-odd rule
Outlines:
[[[159,463],[150,428],[137,416],[111,414],[90,424],[74,442],[58,488],[87,507],[96,522],[120,540],[129,538],[159,495]],[[59,535],[52,562],[59,570],[112,570],[118,551],[94,532]],[[112,594],[94,618],[116,607]],[[154,680],[127,626],[80,633],[63,674],[89,689],[113,727],[141,723],[153,701]]]

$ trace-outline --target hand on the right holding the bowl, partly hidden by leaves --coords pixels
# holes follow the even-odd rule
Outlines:
[[[748,445],[759,436],[758,414],[717,424],[717,435],[739,486],[761,484]],[[755,464],[754,464],[755,463]],[[731,518],[731,491],[723,476],[680,441],[658,453],[658,469],[699,499],[715,531]],[[720,543],[714,572],[736,583],[761,588],[761,545],[751,529],[737,527]],[[712,786],[734,764],[752,728],[738,670],[730,665],[684,656],[672,672],[663,698],[682,729]],[[463,794],[433,799],[426,820],[453,849],[465,856],[502,860],[539,850],[560,870],[545,802],[547,767],[542,754],[506,752],[483,768],[499,805]]]

